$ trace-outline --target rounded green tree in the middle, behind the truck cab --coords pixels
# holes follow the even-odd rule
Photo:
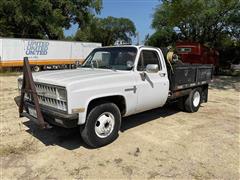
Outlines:
[[[118,39],[130,42],[131,37],[135,34],[135,25],[127,18],[107,17],[101,19],[93,17],[87,27],[78,30],[75,39],[101,42],[103,46],[108,46],[113,45]]]

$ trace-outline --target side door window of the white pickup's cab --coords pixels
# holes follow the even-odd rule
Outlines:
[[[160,70],[160,61],[156,51],[143,50],[140,54],[137,70],[145,71],[148,64],[157,64]]]

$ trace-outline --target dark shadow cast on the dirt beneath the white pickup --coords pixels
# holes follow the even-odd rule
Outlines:
[[[126,117],[123,118],[120,131],[124,132],[144,123],[157,120],[160,117],[164,118],[178,112],[179,111],[171,105]],[[52,129],[42,130],[32,121],[27,121],[23,124],[29,128],[26,132],[40,140],[46,146],[57,145],[68,150],[74,150],[80,147],[91,149],[81,139],[79,128],[65,129],[54,126]]]

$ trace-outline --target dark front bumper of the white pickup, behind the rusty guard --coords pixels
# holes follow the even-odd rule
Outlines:
[[[15,98],[16,104],[19,106],[19,98]],[[36,123],[38,123],[38,119],[29,113],[29,108],[35,109],[35,106],[25,101],[24,102],[24,112],[20,114],[22,117],[26,117]],[[49,124],[53,124],[56,126],[61,126],[65,128],[74,128],[78,125],[78,114],[65,114],[60,111],[49,109],[45,106],[40,105],[40,109],[44,118],[44,121]]]

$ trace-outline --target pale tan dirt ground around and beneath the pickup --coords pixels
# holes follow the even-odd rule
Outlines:
[[[125,118],[90,149],[78,129],[18,117],[17,76],[0,76],[1,179],[239,179],[240,78],[218,77],[197,113],[164,107]]]

